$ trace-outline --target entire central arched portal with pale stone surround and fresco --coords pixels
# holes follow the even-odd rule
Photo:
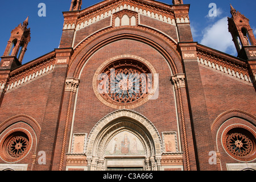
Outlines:
[[[101,119],[86,144],[89,170],[159,170],[162,142],[147,118],[118,110]]]

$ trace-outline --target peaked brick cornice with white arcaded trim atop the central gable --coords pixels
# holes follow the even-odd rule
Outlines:
[[[76,28],[80,30],[90,24],[96,23],[99,20],[108,18],[114,13],[117,13],[122,10],[130,10],[141,15],[149,16],[160,20],[162,22],[170,23],[175,25],[175,16],[172,5],[167,5],[166,3],[158,1],[143,1],[143,0],[118,0],[118,1],[103,1],[97,3],[96,5],[87,7],[84,10],[81,10],[79,13],[76,13],[77,19],[69,19],[68,16],[72,14],[72,11],[64,12],[64,17],[67,17],[64,22],[64,30],[69,30]],[[189,22],[188,17],[180,17],[177,19],[177,22]]]

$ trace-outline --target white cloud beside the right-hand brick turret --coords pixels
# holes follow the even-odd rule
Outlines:
[[[228,31],[228,18],[224,17],[203,30],[200,44],[237,56],[237,51]]]

